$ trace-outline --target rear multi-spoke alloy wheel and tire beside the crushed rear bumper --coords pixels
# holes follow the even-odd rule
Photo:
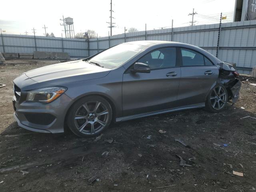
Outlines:
[[[216,85],[207,97],[206,109],[210,112],[219,112],[227,104],[228,92],[222,85]]]

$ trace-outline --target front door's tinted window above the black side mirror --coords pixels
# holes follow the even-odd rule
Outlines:
[[[150,66],[150,69],[161,69],[161,68],[170,68],[176,66],[176,48],[167,47],[154,50],[137,62],[145,63]]]

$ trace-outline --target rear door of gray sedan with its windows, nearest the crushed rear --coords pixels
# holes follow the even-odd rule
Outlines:
[[[204,103],[219,70],[212,62],[194,50],[180,48],[182,60],[179,103],[183,106]]]

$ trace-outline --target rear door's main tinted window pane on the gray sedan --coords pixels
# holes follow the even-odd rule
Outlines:
[[[183,66],[204,65],[204,56],[190,49],[181,49]]]

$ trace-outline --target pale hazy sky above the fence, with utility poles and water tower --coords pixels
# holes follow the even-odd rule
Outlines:
[[[232,22],[235,0],[112,0],[113,22],[116,27],[112,34],[124,33],[124,27],[139,31],[159,29],[171,26],[189,26],[195,12],[196,25],[218,23],[220,13],[227,16],[223,22]],[[110,28],[110,0],[3,0],[0,10],[0,28],[4,34],[32,35],[36,29],[37,36],[53,32],[60,37],[64,27],[60,18],[74,19],[74,32],[94,30],[98,36],[108,36]]]

